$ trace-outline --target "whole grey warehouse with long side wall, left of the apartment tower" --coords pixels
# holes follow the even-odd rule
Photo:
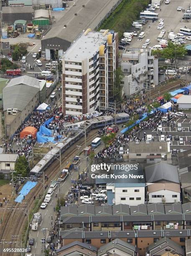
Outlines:
[[[11,137],[39,105],[39,91],[38,79],[28,76],[11,79],[3,89],[6,137]]]

